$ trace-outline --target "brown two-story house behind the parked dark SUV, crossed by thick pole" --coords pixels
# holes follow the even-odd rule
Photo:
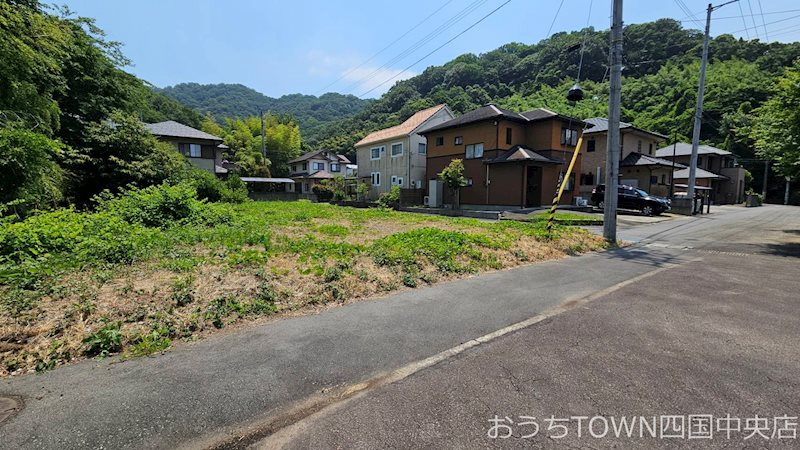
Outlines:
[[[608,119],[593,117],[586,119],[586,122],[593,126],[583,134],[580,192],[588,197],[595,185],[605,183]],[[656,155],[659,144],[667,137],[620,122],[619,139],[619,182],[654,195],[668,195],[672,183],[672,162]]]

